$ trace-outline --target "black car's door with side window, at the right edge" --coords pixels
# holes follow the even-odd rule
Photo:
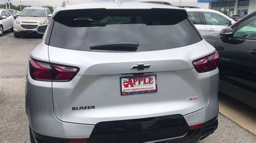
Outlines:
[[[256,96],[256,14],[232,28],[233,37],[221,37],[215,45],[220,80]]]

